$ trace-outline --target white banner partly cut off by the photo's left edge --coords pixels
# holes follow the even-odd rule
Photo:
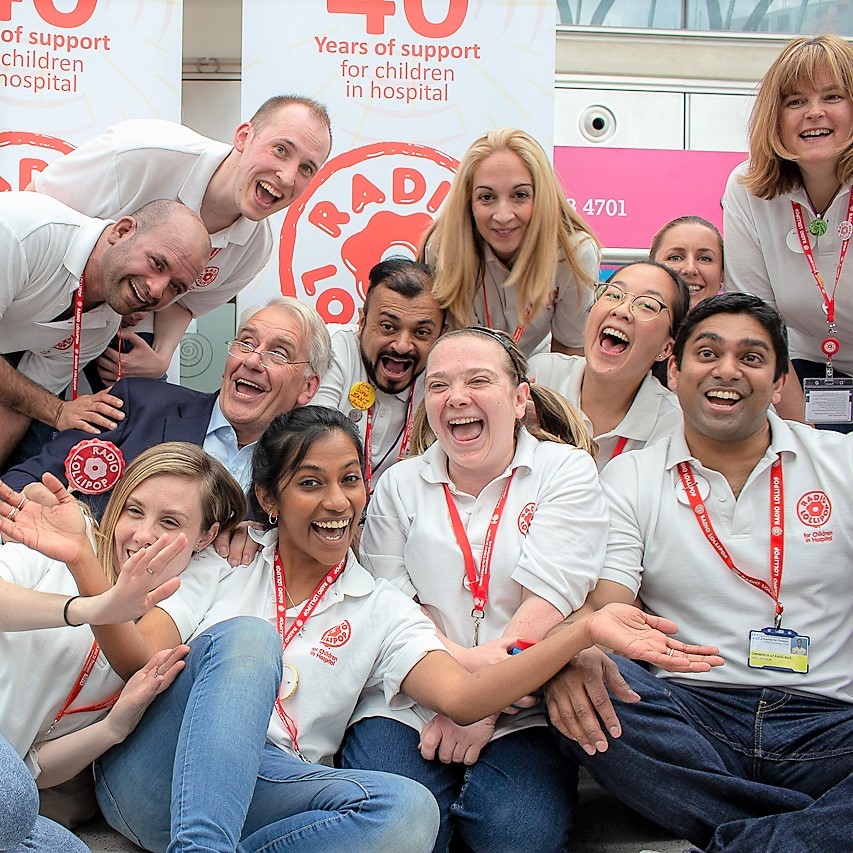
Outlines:
[[[0,190],[126,118],[181,118],[182,0],[0,0]]]

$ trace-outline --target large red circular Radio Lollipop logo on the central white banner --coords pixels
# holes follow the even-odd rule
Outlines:
[[[435,148],[404,142],[377,142],[329,160],[287,209],[281,292],[313,304],[328,323],[352,322],[371,267],[389,254],[416,255],[458,166]]]

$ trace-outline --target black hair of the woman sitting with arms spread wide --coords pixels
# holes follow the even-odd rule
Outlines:
[[[337,409],[327,406],[298,406],[278,415],[264,430],[252,454],[252,489],[249,503],[252,512],[269,530],[273,524],[261,506],[256,492],[278,496],[282,485],[298,470],[311,447],[318,441],[342,432],[352,441],[358,463],[364,467],[364,448],[358,428]]]

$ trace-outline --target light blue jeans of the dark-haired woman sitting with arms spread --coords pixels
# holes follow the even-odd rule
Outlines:
[[[265,743],[281,683],[271,625],[230,619],[190,647],[175,683],[95,766],[111,826],[154,851],[431,847],[438,815],[428,791],[306,764]]]

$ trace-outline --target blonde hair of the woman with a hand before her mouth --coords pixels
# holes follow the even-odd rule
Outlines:
[[[149,447],[127,466],[110,495],[96,533],[95,552],[110,583],[118,577],[113,538],[124,505],[138,486],[158,474],[187,480],[187,494],[197,495],[201,503],[202,531],[218,523],[220,533],[228,532],[246,517],[246,496],[221,462],[185,441]]]

